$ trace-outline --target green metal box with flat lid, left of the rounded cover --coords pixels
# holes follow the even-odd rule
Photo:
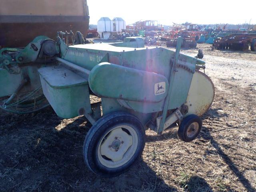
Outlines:
[[[58,116],[73,118],[92,113],[86,80],[62,66],[40,68],[38,71],[44,95]]]

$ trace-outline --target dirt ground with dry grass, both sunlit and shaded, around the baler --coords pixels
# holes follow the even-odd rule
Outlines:
[[[147,130],[138,162],[102,179],[84,164],[91,126],[84,116],[60,119],[51,108],[33,115],[0,111],[0,191],[255,191],[256,52],[198,48],[215,86],[198,139],[182,142],[177,128],[161,136]],[[195,56],[198,48],[182,53]]]

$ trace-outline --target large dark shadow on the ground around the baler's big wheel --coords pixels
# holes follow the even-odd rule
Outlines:
[[[3,191],[177,191],[142,159],[116,178],[90,172],[82,146],[91,124],[83,116],[62,120],[54,111],[5,114],[5,125],[0,129]]]

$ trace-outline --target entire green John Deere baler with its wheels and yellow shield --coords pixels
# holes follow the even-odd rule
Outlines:
[[[181,38],[174,52],[144,48],[139,37],[113,44],[75,44],[68,41],[70,36],[74,38],[72,32],[58,32],[56,41],[39,36],[23,49],[1,50],[4,110],[10,111],[19,94],[30,98],[40,89],[38,97],[31,94],[30,107],[38,106],[36,98],[41,98],[61,118],[85,115],[92,128],[84,141],[84,160],[104,177],[119,175],[135,162],[147,128],[161,134],[179,126],[185,142],[198,136],[199,116],[212,104],[214,85],[196,70],[205,68],[202,60],[180,54]],[[92,104],[90,95],[101,102]]]

